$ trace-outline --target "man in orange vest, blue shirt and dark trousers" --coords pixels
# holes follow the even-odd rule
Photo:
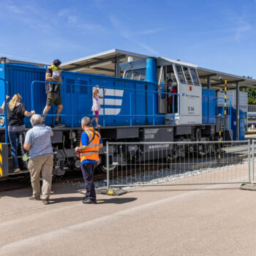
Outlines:
[[[103,146],[102,138],[99,132],[90,127],[91,120],[89,117],[82,118],[81,126],[83,134],[80,146],[75,148],[75,152],[79,153],[81,170],[86,185],[86,196],[83,198],[83,203],[97,203],[94,188],[94,169],[99,161],[99,148]]]

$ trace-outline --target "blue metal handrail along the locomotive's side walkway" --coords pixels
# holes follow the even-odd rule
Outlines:
[[[45,84],[45,83],[52,83],[52,84],[59,84],[59,85],[64,85],[66,86],[67,83],[54,83],[54,82],[45,82],[45,81],[41,81],[41,80],[34,80],[32,83],[31,83],[31,108],[32,110],[34,110],[34,85],[36,83],[39,83],[39,84]],[[69,85],[70,86],[70,85]],[[80,85],[80,84],[72,84],[72,86],[84,86],[84,85]],[[86,85],[88,87],[94,87],[96,85]],[[108,86],[102,86],[101,89],[112,89],[113,90],[113,87],[108,87]],[[152,115],[138,115],[138,114],[133,114],[132,113],[132,91],[140,91],[140,92],[143,92],[143,93],[151,93],[151,94],[159,94],[159,91],[146,91],[146,90],[141,90],[141,89],[127,89],[127,88],[117,88],[116,90],[124,90],[124,91],[129,91],[129,114],[118,114],[118,116],[121,116],[121,117],[129,117],[129,125],[132,126],[132,118],[133,117],[151,117],[153,118],[153,124],[155,124],[155,118],[157,117],[164,117],[164,115],[159,115],[159,114],[155,114],[156,111],[155,111],[155,99],[153,100],[152,102]],[[169,92],[161,92],[161,94],[170,94]],[[174,124],[174,116],[180,116],[180,96],[179,94],[174,94],[174,93],[171,93],[173,95],[173,99],[174,97],[178,97],[178,113],[174,113],[174,100],[173,100],[173,114],[170,114],[170,115],[165,115],[165,116],[171,116],[173,117],[173,124]],[[73,110],[72,110],[72,94],[70,94],[70,102],[71,102],[71,114],[61,114],[61,115],[57,115],[57,114],[48,114],[48,115],[42,115],[42,116],[70,116],[71,117],[71,121],[72,121],[72,125],[71,127],[73,127],[73,118],[74,117],[78,117],[78,116],[84,116],[84,115],[75,115],[73,114]],[[87,116],[96,116],[96,115],[87,115]],[[116,115],[105,115],[105,94],[103,93],[103,115],[99,115],[99,116],[102,116],[103,118],[103,127],[105,127],[105,117],[106,116],[116,116]]]

